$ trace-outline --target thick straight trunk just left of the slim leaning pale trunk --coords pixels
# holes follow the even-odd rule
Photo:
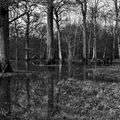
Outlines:
[[[53,59],[53,1],[47,0],[47,61]]]

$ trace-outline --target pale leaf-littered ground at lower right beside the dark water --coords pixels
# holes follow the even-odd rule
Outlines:
[[[61,108],[69,114],[62,114],[69,120],[120,120],[120,65],[89,70],[95,80],[69,79],[63,85],[66,104]]]

